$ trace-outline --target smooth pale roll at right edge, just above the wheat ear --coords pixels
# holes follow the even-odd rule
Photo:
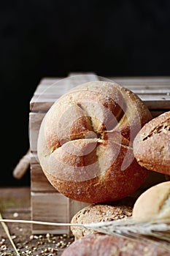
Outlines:
[[[132,217],[141,222],[170,222],[170,181],[157,184],[143,192],[134,203]]]

